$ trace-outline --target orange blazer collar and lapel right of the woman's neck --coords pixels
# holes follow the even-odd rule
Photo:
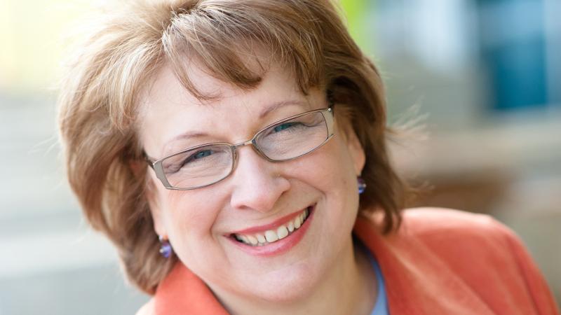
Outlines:
[[[407,226],[383,236],[374,221],[359,217],[353,232],[378,261],[390,314],[494,314]]]

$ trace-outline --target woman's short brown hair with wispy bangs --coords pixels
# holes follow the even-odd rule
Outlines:
[[[108,13],[109,14],[109,13]],[[146,172],[135,118],[140,90],[163,64],[200,98],[184,71],[196,59],[212,76],[251,89],[261,74],[248,66],[266,48],[303,92],[320,87],[336,119],[349,123],[366,153],[360,211],[384,211],[384,231],[400,222],[405,186],[386,152],[381,78],[328,0],[133,1],[88,37],[62,82],[60,134],[67,176],[86,218],[119,250],[128,279],[153,294],[177,258],[158,253],[145,195]],[[257,57],[255,57],[257,58]],[[144,165],[142,165],[144,167]]]

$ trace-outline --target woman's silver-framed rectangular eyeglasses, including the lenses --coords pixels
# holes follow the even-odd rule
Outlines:
[[[242,146],[253,146],[270,162],[283,162],[315,151],[331,137],[333,110],[317,109],[264,127],[241,144],[203,144],[159,160],[147,158],[147,162],[165,188],[191,190],[218,183],[232,174],[238,159],[237,150]]]

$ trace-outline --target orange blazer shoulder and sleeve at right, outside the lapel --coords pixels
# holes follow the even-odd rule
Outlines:
[[[489,303],[518,301],[520,309],[534,309],[536,314],[560,314],[522,240],[491,216],[452,209],[407,209],[398,235],[407,240],[406,246],[428,249]]]

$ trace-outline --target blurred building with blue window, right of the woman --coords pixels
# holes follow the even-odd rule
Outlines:
[[[393,122],[424,118],[424,134],[395,146],[403,174],[430,188],[414,205],[510,225],[561,300],[561,3],[379,0],[368,11]]]

